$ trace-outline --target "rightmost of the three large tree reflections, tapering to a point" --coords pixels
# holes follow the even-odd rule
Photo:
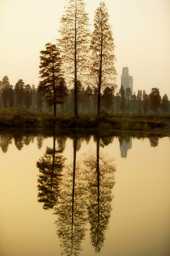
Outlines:
[[[88,180],[89,200],[88,200],[88,220],[90,222],[91,243],[95,252],[100,252],[105,240],[105,231],[110,218],[111,201],[113,194],[114,172],[113,159],[100,154],[100,145],[103,142],[100,137],[96,137],[96,154],[91,151],[84,155],[86,166],[86,178]]]

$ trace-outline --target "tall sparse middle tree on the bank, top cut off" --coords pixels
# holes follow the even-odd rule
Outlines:
[[[68,6],[61,18],[59,44],[62,47],[63,61],[74,83],[74,115],[78,115],[77,82],[87,69],[89,43],[89,18],[85,13],[83,0],[68,0]]]

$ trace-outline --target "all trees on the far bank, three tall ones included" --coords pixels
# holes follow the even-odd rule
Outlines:
[[[35,104],[39,111],[53,111],[54,117],[57,111],[74,112],[75,116],[78,112],[100,114],[102,109],[110,113],[135,113],[137,109],[138,114],[142,109],[144,114],[161,108],[163,113],[168,111],[167,95],[161,99],[157,88],[152,88],[149,95],[141,90],[131,95],[130,88],[125,92],[121,85],[114,95],[115,44],[104,2],[95,11],[92,32],[83,0],[68,0],[60,24],[57,44],[47,43],[40,52],[37,90],[22,79],[14,89],[7,76],[0,82],[5,109],[15,105],[34,111]]]

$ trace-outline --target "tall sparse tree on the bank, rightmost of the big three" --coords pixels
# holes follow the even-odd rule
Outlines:
[[[92,32],[91,45],[91,67],[90,75],[93,79],[95,92],[97,92],[97,113],[100,113],[101,93],[104,88],[115,85],[115,55],[114,38],[109,25],[109,15],[104,2],[100,2],[95,12],[94,30]]]

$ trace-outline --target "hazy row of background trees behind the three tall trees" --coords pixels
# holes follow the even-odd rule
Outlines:
[[[57,98],[58,113],[74,112],[74,88],[68,89],[63,82],[61,82],[60,89],[65,86],[63,98]],[[42,86],[42,85],[41,85]],[[35,85],[26,84],[22,79],[19,79],[16,85],[13,86],[9,82],[9,78],[4,76],[0,81],[0,108],[22,108],[30,111],[50,111],[52,112],[52,105],[50,105],[51,98],[46,93],[45,96],[39,92]],[[60,95],[61,96],[61,95]],[[45,98],[46,97],[46,98]],[[134,92],[131,94],[130,88],[124,90],[123,86],[116,92],[114,87],[105,87],[103,93],[100,93],[100,112],[106,113],[137,113],[137,114],[159,114],[160,111],[166,114],[169,110],[169,99],[165,94],[162,98],[159,89],[152,88],[150,94],[146,94],[145,90],[138,90],[137,95]],[[86,88],[78,80],[77,82],[77,108],[79,113],[97,113],[98,97],[93,93],[90,85]],[[161,112],[161,113],[162,113]]]

